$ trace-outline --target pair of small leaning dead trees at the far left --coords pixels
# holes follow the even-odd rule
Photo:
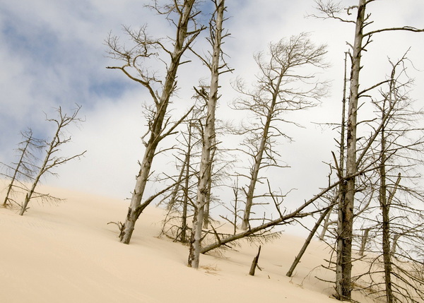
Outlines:
[[[77,105],[71,114],[63,112],[61,107],[57,109],[57,117],[46,120],[54,124],[54,134],[50,140],[35,138],[33,131],[21,132],[23,141],[18,143],[16,162],[11,165],[0,163],[6,168],[5,173],[1,173],[10,183],[6,186],[6,196],[3,207],[18,206],[19,215],[23,215],[28,209],[28,204],[32,200],[42,202],[58,203],[62,199],[50,194],[37,192],[37,186],[43,177],[47,174],[56,175],[54,168],[64,165],[73,159],[81,158],[86,151],[71,156],[59,156],[61,148],[71,141],[71,136],[67,130],[71,124],[78,124],[83,119],[78,117],[81,106]],[[23,201],[20,198],[25,195]]]

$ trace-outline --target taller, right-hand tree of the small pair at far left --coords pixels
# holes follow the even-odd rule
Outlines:
[[[54,133],[54,136],[52,137],[52,140],[49,142],[45,142],[45,148],[46,148],[45,158],[42,161],[42,164],[40,165],[40,167],[38,167],[38,172],[33,178],[33,182],[30,188],[28,189],[28,192],[25,194],[25,199],[20,208],[19,215],[23,215],[25,211],[28,210],[28,203],[30,202],[32,198],[56,199],[52,196],[49,196],[48,194],[43,195],[43,194],[37,194],[35,192],[35,189],[37,185],[39,184],[41,177],[45,176],[45,174],[48,172],[50,174],[54,174],[52,170],[55,167],[58,167],[59,165],[64,165],[66,162],[69,162],[70,160],[79,159],[81,158],[81,156],[84,155],[84,153],[86,153],[86,150],[85,150],[83,151],[83,153],[79,153],[78,155],[72,155],[67,157],[58,156],[58,153],[61,150],[61,148],[63,148],[63,145],[71,141],[70,136],[65,136],[65,131],[68,128],[68,126],[71,124],[75,124],[75,123],[83,121],[81,118],[77,117],[80,109],[81,109],[81,106],[77,106],[77,108],[73,111],[73,113],[71,115],[68,115],[62,111],[61,107],[59,107],[59,109],[57,109],[58,117],[47,119],[47,121],[56,124],[56,131]],[[33,196],[34,194],[36,196]]]

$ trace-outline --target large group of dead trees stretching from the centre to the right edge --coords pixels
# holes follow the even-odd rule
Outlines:
[[[272,237],[279,225],[316,214],[319,219],[288,275],[293,274],[307,244],[322,225],[321,238],[334,244],[335,258],[328,267],[335,272],[337,299],[350,300],[354,285],[362,285],[387,302],[422,301],[424,221],[419,203],[424,196],[416,167],[422,164],[419,153],[424,133],[419,124],[422,112],[408,97],[411,79],[406,74],[407,52],[399,54],[400,59],[389,60],[388,76],[370,87],[360,87],[360,76],[366,72],[361,59],[372,37],[380,32],[424,30],[409,26],[368,30],[373,21],[366,8],[375,0],[358,0],[358,5],[351,7],[316,1],[319,13],[314,17],[350,23],[353,41],[348,42],[346,52],[337,128],[340,138],[336,138],[337,150],[329,165],[329,184],[290,209],[284,203],[287,194],[275,189],[275,182],[265,171],[288,166],[278,153],[278,145],[290,141],[285,125],[298,125],[290,119],[290,112],[314,107],[327,93],[326,81],[317,77],[317,71],[328,66],[324,59],[326,47],[300,33],[271,42],[265,52],[256,54],[257,81],[245,85],[237,79],[233,84],[240,97],[232,107],[247,112],[249,122],[229,127],[216,117],[220,78],[232,71],[223,49],[229,35],[224,29],[227,11],[225,0],[207,2],[213,4],[213,10],[204,22],[201,1],[153,1],[150,8],[174,27],[173,37],[152,37],[147,25],[139,30],[124,28],[129,37],[127,44],[121,44],[117,36],[107,37],[110,57],[119,63],[108,68],[122,71],[151,96],[151,102],[145,105],[148,131],[142,136],[145,150],[136,186],[125,221],[118,224],[120,241],[129,244],[136,220],[158,197],[170,210],[166,221],[170,227],[164,227],[164,232],[190,244],[188,265],[194,268],[199,267],[200,254],[229,246],[237,239]],[[200,39],[206,39],[208,49],[196,49],[194,42]],[[151,69],[153,62],[163,65]],[[208,81],[194,84],[196,101],[187,112],[175,117],[169,105],[179,89],[179,67],[196,62],[207,69]],[[222,133],[242,138],[240,145],[232,150],[225,148],[219,141]],[[179,141],[178,152],[174,152],[177,173],[170,169],[161,172],[162,177],[154,176],[153,161],[158,154],[169,151],[163,140],[172,135],[177,135]],[[237,158],[242,159],[243,167],[235,165]],[[158,180],[163,188],[146,196],[146,186]],[[228,184],[233,184],[234,198],[221,201],[213,191]],[[231,223],[232,232],[220,232],[216,226],[219,223],[211,219],[213,203],[230,211],[221,218]],[[257,215],[261,204],[273,206],[276,217]],[[361,230],[367,230],[367,237],[358,247],[362,247],[362,259],[370,262],[370,270],[354,277],[353,254]],[[371,234],[372,241],[365,242]],[[365,275],[367,283],[360,284]]]

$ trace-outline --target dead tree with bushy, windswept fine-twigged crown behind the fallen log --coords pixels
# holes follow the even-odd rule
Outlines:
[[[325,83],[319,81],[305,67],[324,68],[325,45],[315,46],[308,35],[302,33],[269,44],[267,54],[255,55],[259,67],[258,81],[253,90],[245,90],[237,81],[236,90],[244,95],[234,104],[235,109],[249,111],[252,122],[244,126],[247,137],[242,150],[250,158],[248,185],[243,189],[246,196],[242,230],[249,228],[254,199],[263,197],[255,194],[261,183],[260,171],[266,167],[287,167],[278,160],[276,138],[290,138],[281,126],[282,123],[296,124],[287,117],[288,112],[307,109],[316,105],[319,97],[326,93]]]

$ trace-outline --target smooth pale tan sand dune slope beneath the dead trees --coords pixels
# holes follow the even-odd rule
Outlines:
[[[331,273],[310,273],[328,258],[322,243],[312,243],[293,279],[285,273],[303,239],[289,235],[263,246],[264,269],[254,277],[247,273],[257,246],[246,243],[201,256],[196,271],[186,266],[187,246],[157,237],[162,210],[147,208],[124,245],[107,222],[123,220],[126,203],[47,191],[67,201],[32,203],[23,217],[0,208],[0,302],[336,302],[331,285],[314,278]]]

